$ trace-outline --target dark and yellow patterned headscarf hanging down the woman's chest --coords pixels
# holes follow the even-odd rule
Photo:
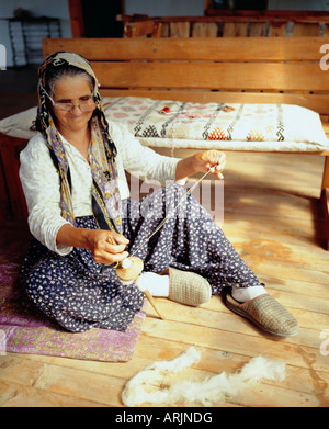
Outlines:
[[[93,95],[95,111],[90,120],[92,172],[92,211],[98,226],[122,233],[121,196],[118,191],[117,171],[115,165],[116,147],[109,134],[101,97],[98,90],[98,79],[90,64],[78,54],[58,52],[49,55],[38,69],[38,108],[35,128],[43,133],[50,150],[54,165],[60,178],[61,216],[75,225],[75,213],[71,199],[71,182],[68,159],[60,135],[55,126],[52,112],[48,109],[46,82],[52,68],[58,66],[75,66],[84,70],[93,78]]]

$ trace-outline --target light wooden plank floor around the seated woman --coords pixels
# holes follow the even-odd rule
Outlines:
[[[318,202],[322,165],[317,156],[228,154],[225,174],[223,229],[268,291],[297,318],[297,337],[264,335],[218,296],[198,308],[158,298],[167,320],[149,306],[131,362],[0,357],[1,406],[121,407],[127,380],[192,345],[202,358],[184,377],[231,373],[258,355],[286,363],[283,382],[257,383],[216,406],[329,406],[329,252],[321,247]]]

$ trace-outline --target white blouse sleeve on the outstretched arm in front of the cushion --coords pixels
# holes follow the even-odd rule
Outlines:
[[[175,168],[180,159],[166,157],[143,146],[125,124],[111,121],[109,131],[125,170],[137,174],[143,181],[156,180],[161,184],[175,179]]]

